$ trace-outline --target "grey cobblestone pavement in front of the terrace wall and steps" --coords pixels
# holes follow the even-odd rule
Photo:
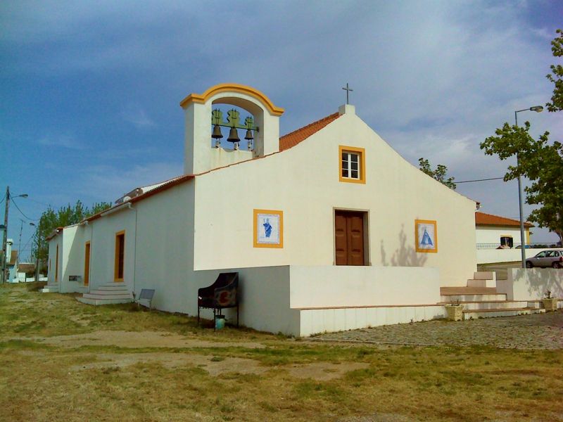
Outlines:
[[[312,341],[381,345],[487,345],[512,349],[563,349],[563,311],[546,314],[426,321],[326,333]]]

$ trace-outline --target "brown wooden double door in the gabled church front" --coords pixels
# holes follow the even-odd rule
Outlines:
[[[364,217],[365,212],[334,212],[336,265],[365,265]]]

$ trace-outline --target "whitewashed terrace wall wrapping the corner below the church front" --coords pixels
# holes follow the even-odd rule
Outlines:
[[[241,324],[261,331],[303,336],[443,317],[443,307],[436,306],[440,277],[435,268],[280,266],[194,271],[189,277],[191,296],[195,298],[197,288],[213,283],[220,272],[229,271],[239,272]],[[163,293],[160,300],[165,299]],[[155,303],[159,307],[160,302]],[[196,309],[187,312],[193,315]],[[225,309],[224,314],[230,322],[236,321],[233,309]],[[205,310],[202,316],[213,314]]]

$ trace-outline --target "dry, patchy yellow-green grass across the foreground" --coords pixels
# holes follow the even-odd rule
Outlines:
[[[0,286],[1,421],[563,421],[562,350],[213,333],[182,315],[91,307],[25,287]],[[108,330],[209,344],[63,347],[41,339]]]

